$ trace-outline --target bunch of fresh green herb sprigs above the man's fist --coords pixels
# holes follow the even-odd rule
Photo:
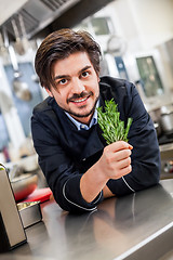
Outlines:
[[[103,107],[97,108],[98,113],[98,125],[103,130],[103,136],[107,144],[125,141],[128,142],[128,133],[132,125],[132,118],[128,118],[127,128],[124,128],[124,121],[120,120],[120,113],[118,112],[118,105],[114,99],[105,101],[105,112]]]

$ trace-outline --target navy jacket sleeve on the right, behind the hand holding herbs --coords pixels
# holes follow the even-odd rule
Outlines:
[[[120,104],[120,113],[124,112],[124,120],[133,118],[129,131],[129,143],[133,145],[132,171],[118,180],[108,181],[108,187],[117,196],[149,187],[160,179],[160,152],[152,120],[136,88],[129,82],[125,87],[127,96]]]

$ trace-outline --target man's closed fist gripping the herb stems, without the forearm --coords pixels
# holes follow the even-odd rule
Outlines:
[[[106,146],[97,161],[99,172],[107,180],[119,179],[130,173],[132,170],[130,157],[132,148],[133,146],[124,141],[118,141]]]

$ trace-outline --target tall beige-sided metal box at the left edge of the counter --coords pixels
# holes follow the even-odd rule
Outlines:
[[[8,172],[2,165],[0,165],[0,252],[2,252],[26,242]]]

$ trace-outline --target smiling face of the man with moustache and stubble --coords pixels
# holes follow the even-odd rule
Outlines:
[[[75,119],[89,123],[99,95],[99,78],[85,52],[76,52],[53,65],[56,88],[46,89]]]

